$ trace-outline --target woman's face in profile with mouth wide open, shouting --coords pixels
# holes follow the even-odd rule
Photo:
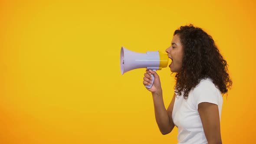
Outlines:
[[[173,37],[171,46],[168,47],[165,52],[167,52],[168,57],[172,60],[169,65],[171,72],[180,72],[182,67],[183,47],[178,34]]]

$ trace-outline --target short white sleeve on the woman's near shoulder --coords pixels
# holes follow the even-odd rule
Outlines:
[[[200,82],[197,87],[194,88],[194,101],[193,105],[198,110],[198,105],[202,102],[209,102],[218,105],[219,95],[217,94],[217,88],[211,81]]]

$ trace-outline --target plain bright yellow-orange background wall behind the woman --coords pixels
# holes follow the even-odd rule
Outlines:
[[[161,135],[145,69],[121,75],[120,48],[164,51],[189,23],[213,36],[229,64],[223,144],[253,144],[255,1],[1,0],[1,144],[177,143]],[[170,69],[158,72],[167,107]]]

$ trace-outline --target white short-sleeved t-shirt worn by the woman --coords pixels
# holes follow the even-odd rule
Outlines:
[[[187,99],[184,99],[183,94],[183,92],[181,95],[176,93],[172,111],[172,120],[178,128],[178,144],[208,144],[198,113],[198,104],[201,102],[216,104],[221,115],[223,104],[221,92],[212,80],[207,78],[202,79],[194,89],[190,90]]]

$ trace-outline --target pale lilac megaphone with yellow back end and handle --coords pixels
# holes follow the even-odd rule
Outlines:
[[[132,69],[147,68],[153,71],[161,70],[167,67],[169,57],[167,54],[161,53],[159,51],[149,51],[146,53],[133,52],[131,50],[121,47],[120,54],[120,68],[121,74],[128,72]],[[154,75],[151,75],[152,84],[145,85],[146,88],[151,88],[154,83]]]

